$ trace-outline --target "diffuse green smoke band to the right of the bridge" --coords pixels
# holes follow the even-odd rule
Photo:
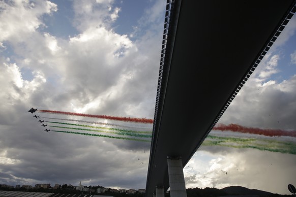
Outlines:
[[[255,138],[228,138],[208,135],[208,137],[204,140],[202,145],[225,146],[231,148],[254,148],[262,151],[267,150],[271,152],[296,154],[296,143],[281,142],[276,140],[259,140]]]

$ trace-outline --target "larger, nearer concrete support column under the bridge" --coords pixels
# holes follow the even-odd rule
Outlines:
[[[171,197],[187,197],[181,157],[167,157],[168,180]]]

